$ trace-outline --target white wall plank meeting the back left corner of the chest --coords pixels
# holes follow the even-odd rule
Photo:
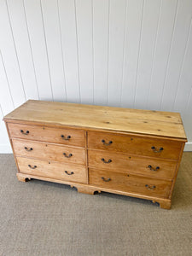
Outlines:
[[[32,62],[23,1],[7,0],[7,3],[26,99],[38,99],[38,84]]]

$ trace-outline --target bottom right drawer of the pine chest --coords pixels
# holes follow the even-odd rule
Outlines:
[[[168,198],[172,182],[89,168],[89,183],[101,188]]]

